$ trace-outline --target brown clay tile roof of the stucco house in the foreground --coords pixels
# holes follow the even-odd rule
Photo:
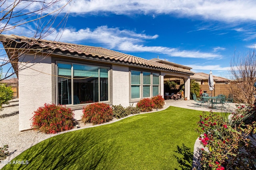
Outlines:
[[[133,66],[142,66],[145,68],[153,68],[158,70],[165,70],[168,72],[178,72],[181,74],[193,75],[194,72],[166,64],[156,63],[154,61],[146,60],[140,57],[120,53],[102,47],[92,47],[87,45],[77,45],[72,43],[62,43],[57,41],[48,41],[43,39],[34,39],[18,35],[0,35],[0,42],[3,43],[4,48],[8,51],[10,47],[16,47],[14,50],[30,49],[40,50],[46,53],[62,53],[67,56],[75,56],[88,59],[100,59],[112,63],[129,64]],[[9,55],[9,54],[8,54]],[[10,58],[10,56],[9,56]]]

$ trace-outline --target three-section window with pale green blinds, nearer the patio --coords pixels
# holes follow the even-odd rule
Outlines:
[[[159,73],[131,70],[131,99],[157,96],[160,86],[159,76]],[[142,92],[142,97],[140,92]]]

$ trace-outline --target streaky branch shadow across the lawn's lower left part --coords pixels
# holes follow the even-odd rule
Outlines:
[[[62,135],[66,136],[63,137]],[[105,141],[103,144],[100,140],[104,136],[103,132],[98,133],[98,135],[91,135],[90,132],[77,131],[62,135],[43,141],[39,143],[40,145],[35,145],[12,160],[12,162],[28,160],[28,164],[12,163],[4,166],[3,169],[63,170],[71,168],[94,170],[101,169],[100,167],[110,168],[108,167],[110,165],[106,164],[106,158],[108,158],[114,141]],[[81,145],[85,147],[81,147]]]

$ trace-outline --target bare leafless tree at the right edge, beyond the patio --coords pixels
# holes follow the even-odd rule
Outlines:
[[[244,55],[234,55],[230,62],[230,92],[237,102],[252,104],[254,82],[256,82],[256,51]]]

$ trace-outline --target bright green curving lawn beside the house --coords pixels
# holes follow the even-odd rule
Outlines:
[[[182,169],[178,163],[185,160],[182,151],[188,150],[185,157],[192,161],[198,136],[196,122],[201,114],[202,111],[171,106],[64,133],[38,143],[14,159],[28,160],[28,164],[8,164],[3,169]]]

